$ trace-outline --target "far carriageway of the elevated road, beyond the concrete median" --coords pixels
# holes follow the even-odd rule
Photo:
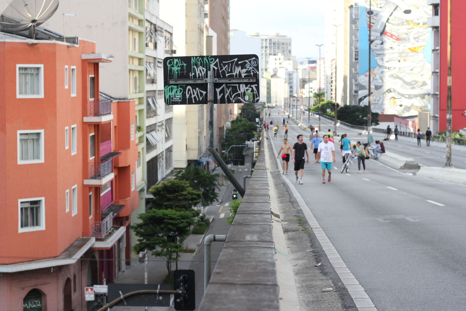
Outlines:
[[[280,130],[278,137],[283,138],[283,126],[281,123],[281,119],[283,118],[283,114],[277,114],[279,111],[278,108],[275,108],[272,110],[274,113],[269,120],[273,120],[274,124],[275,122],[279,121],[280,124]],[[281,110],[280,110],[281,111]],[[267,112],[268,113],[268,112]],[[309,124],[308,121],[308,115],[305,113],[303,116],[303,123],[304,124]],[[291,120],[288,122],[288,125],[295,125]],[[318,126],[319,124],[319,119],[318,117],[310,117],[310,124],[314,126]],[[328,129],[332,129],[333,131],[333,122],[329,122],[329,120],[326,120],[324,118],[321,118],[321,129],[319,132],[326,133]],[[271,135],[273,136],[273,131],[272,127],[270,127]],[[353,129],[348,129],[344,130],[343,128],[338,128],[338,134],[341,136],[343,133],[348,134],[348,138],[351,140],[352,143],[356,143],[358,140],[365,143],[367,142],[367,137],[365,135],[357,136],[358,131],[353,130]],[[290,131],[288,130],[288,134]],[[305,139],[304,142],[309,141],[309,133],[304,133]],[[373,133],[372,135],[374,137],[374,140],[382,140],[385,138],[385,134],[383,133]],[[290,135],[288,135],[290,137]],[[321,135],[322,138],[322,135]],[[336,140],[336,142],[338,139]],[[309,144],[310,145],[310,144]],[[416,160],[420,165],[424,166],[444,166],[445,165],[445,154],[446,151],[445,149],[436,147],[436,146],[426,146],[425,140],[422,140],[422,146],[418,147],[418,141],[416,138],[404,138],[400,137],[397,141],[391,139],[389,141],[384,141],[385,145],[385,150],[389,152],[393,152],[396,154],[399,154],[401,156],[407,157],[407,158],[412,158]],[[443,144],[442,146],[444,146]],[[452,162],[453,166],[456,168],[462,168],[466,169],[466,148],[464,152],[460,152],[457,150],[452,150]]]

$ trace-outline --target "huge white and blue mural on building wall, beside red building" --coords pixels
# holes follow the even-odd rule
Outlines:
[[[427,0],[370,0],[359,6],[359,104],[368,104],[371,27],[372,111],[398,116],[430,111],[431,44]]]

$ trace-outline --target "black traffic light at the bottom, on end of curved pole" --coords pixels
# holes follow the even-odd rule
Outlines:
[[[173,278],[175,290],[185,291],[184,294],[175,294],[175,310],[194,310],[196,308],[194,270],[175,270]]]

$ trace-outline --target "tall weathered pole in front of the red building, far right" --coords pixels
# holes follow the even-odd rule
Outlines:
[[[448,0],[448,17],[446,28],[446,62],[448,63],[446,91],[446,162],[445,167],[452,167],[452,0]]]

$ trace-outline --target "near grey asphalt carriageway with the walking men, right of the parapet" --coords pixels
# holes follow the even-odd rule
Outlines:
[[[275,113],[273,118],[280,116]],[[290,145],[298,133],[308,138],[295,124],[288,125]],[[272,138],[271,129],[269,134]],[[271,140],[276,151],[283,131],[278,138]],[[406,143],[388,142],[388,150],[397,144]],[[375,160],[366,161],[367,173],[358,174],[353,162],[348,174],[334,170],[332,181],[322,184],[321,166],[312,154],[304,184],[298,185],[290,166],[285,177],[378,311],[466,310],[466,187],[400,173]],[[335,166],[341,168],[338,159]]]

